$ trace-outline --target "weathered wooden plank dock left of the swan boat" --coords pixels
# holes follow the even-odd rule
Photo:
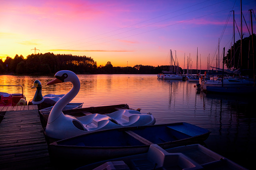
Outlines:
[[[37,105],[0,107],[0,169],[54,169]]]

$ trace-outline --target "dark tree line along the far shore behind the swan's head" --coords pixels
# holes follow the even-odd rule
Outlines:
[[[169,70],[169,66],[113,67],[109,61],[105,66],[98,67],[97,62],[91,57],[53,53],[31,54],[27,58],[16,54],[14,58],[0,60],[0,74],[47,75],[55,74],[59,70],[71,70],[77,74],[158,74],[162,70]]]

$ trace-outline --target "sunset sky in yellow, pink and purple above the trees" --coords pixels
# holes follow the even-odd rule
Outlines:
[[[249,11],[256,1],[242,1],[242,12],[251,33]],[[98,64],[131,66],[169,65],[169,52],[187,68],[191,56],[196,69],[197,48],[201,68],[210,56],[216,66],[233,44],[233,13],[240,32],[237,0],[0,0],[0,59],[16,54],[72,54],[92,57]],[[256,21],[253,19],[253,33]],[[249,36],[243,21],[243,34]],[[224,30],[225,29],[225,30]],[[235,29],[235,41],[240,36]],[[40,51],[39,51],[40,50]],[[198,63],[200,68],[200,63]]]

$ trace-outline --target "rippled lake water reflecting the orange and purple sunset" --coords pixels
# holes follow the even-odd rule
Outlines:
[[[156,75],[78,75],[80,91],[72,102],[83,107],[128,104],[152,113],[156,124],[188,122],[209,129],[205,141],[209,149],[252,169],[256,158],[255,96],[209,95],[196,92],[196,83],[158,80]],[[46,86],[49,76],[1,75],[0,85],[22,85],[27,100],[33,98],[35,80],[42,83],[42,93],[65,94],[71,83]],[[0,87],[1,92],[17,92]]]

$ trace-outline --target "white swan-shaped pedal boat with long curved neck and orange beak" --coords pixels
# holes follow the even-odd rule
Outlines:
[[[118,110],[108,115],[91,114],[75,118],[64,115],[62,109],[78,93],[80,81],[71,71],[62,70],[55,74],[56,79],[47,85],[71,82],[72,89],[63,96],[52,108],[45,133],[48,137],[63,139],[74,135],[85,134],[95,130],[118,128],[123,126],[143,126],[155,123],[152,114],[143,114],[136,110]]]

